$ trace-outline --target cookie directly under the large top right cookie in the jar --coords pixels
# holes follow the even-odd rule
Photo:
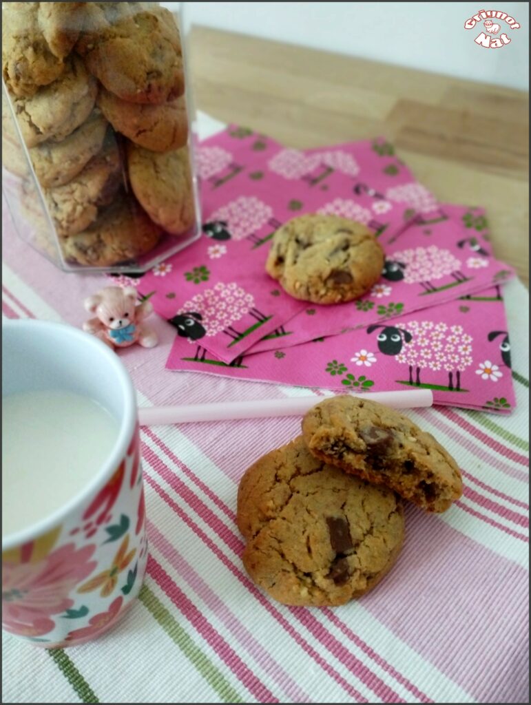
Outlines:
[[[188,140],[184,97],[162,105],[128,103],[114,93],[101,90],[98,105],[117,132],[152,152],[179,149]]]

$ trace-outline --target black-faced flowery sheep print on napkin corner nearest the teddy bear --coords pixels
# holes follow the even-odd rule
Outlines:
[[[233,324],[246,314],[260,321],[268,321],[255,308],[255,299],[236,282],[219,281],[211,289],[205,289],[186,301],[169,323],[177,330],[181,338],[188,338],[190,343],[201,338],[212,338],[224,333],[234,341],[245,335],[246,331],[237,331]],[[197,353],[196,353],[197,355]]]

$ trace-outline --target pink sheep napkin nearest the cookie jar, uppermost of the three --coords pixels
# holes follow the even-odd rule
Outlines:
[[[141,293],[179,336],[231,362],[307,307],[264,271],[281,223],[335,213],[367,224],[385,247],[418,209],[437,217],[434,198],[391,152],[383,140],[305,153],[240,128],[215,135],[199,152],[204,235],[145,274]],[[413,188],[417,209],[401,186]],[[386,189],[394,200],[384,199]]]

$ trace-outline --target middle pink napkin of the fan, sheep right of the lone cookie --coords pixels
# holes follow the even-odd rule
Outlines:
[[[248,353],[274,350],[280,342],[283,347],[299,345],[436,307],[514,275],[513,269],[492,257],[483,209],[441,204],[438,213],[431,221],[425,214],[417,216],[386,245],[384,274],[370,293],[351,304],[307,304],[283,326],[281,341],[273,333]]]

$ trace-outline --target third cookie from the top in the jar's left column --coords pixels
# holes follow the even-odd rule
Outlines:
[[[62,186],[78,176],[101,151],[109,123],[95,108],[87,121],[62,142],[47,140],[30,149],[35,174],[44,188]]]

